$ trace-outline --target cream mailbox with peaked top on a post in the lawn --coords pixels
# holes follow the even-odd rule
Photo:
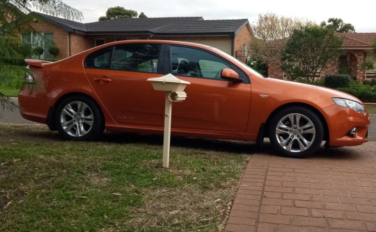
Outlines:
[[[175,101],[184,101],[187,93],[185,87],[190,83],[180,80],[172,74],[157,78],[148,78],[152,83],[154,90],[166,92],[164,103],[164,137],[163,137],[163,167],[169,167],[170,163],[170,139],[171,139],[171,113],[172,103]]]

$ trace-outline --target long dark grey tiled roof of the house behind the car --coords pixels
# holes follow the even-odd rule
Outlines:
[[[157,17],[109,19],[80,23],[51,15],[36,13],[47,22],[61,26],[65,31],[85,34],[152,33],[154,35],[236,35],[248,19],[204,20],[203,17]]]

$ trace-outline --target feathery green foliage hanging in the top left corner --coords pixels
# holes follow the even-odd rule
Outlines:
[[[17,22],[24,22],[22,19],[28,19],[31,8],[65,19],[82,19],[82,13],[79,10],[68,6],[61,0],[0,0],[0,85],[10,83],[15,75],[26,72],[25,67],[17,64],[20,63],[19,60],[30,56],[33,49],[19,40]],[[0,92],[0,107],[12,110],[15,105]]]

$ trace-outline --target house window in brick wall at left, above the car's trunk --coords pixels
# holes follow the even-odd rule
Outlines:
[[[21,33],[21,40],[23,44],[31,44],[31,47],[42,47],[43,53],[40,58],[48,59],[54,58],[54,56],[49,53],[49,47],[54,44],[54,33],[51,32],[26,32]]]

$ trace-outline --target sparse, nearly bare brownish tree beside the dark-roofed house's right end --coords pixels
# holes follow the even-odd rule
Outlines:
[[[251,25],[254,38],[250,44],[253,60],[263,60],[281,65],[281,53],[292,32],[305,25],[311,25],[304,19],[283,17],[274,13],[258,15]]]

